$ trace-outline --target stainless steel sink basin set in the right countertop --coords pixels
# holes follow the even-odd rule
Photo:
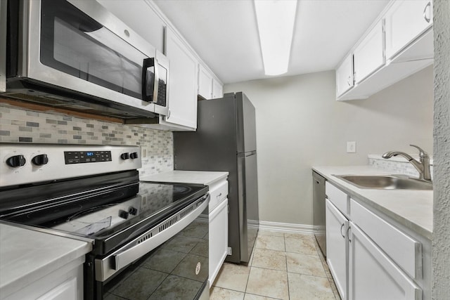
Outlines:
[[[432,183],[419,181],[404,175],[335,175],[358,188],[381,190],[432,190]]]

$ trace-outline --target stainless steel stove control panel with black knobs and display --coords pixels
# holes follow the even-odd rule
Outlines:
[[[140,152],[131,145],[0,143],[0,188],[136,170]]]

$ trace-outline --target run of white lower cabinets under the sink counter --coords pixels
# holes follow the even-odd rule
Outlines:
[[[326,261],[341,299],[430,299],[430,241],[330,182],[326,195]]]

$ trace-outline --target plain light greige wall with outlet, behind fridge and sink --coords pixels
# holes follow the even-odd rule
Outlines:
[[[245,81],[256,108],[259,218],[312,223],[311,167],[367,164],[387,150],[432,153],[432,67],[366,100],[335,101],[332,71]],[[346,152],[356,141],[356,153]]]

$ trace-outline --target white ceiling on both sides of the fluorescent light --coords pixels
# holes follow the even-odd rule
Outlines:
[[[154,1],[224,84],[269,77],[253,1]],[[282,76],[335,69],[388,2],[299,0],[289,69]]]

